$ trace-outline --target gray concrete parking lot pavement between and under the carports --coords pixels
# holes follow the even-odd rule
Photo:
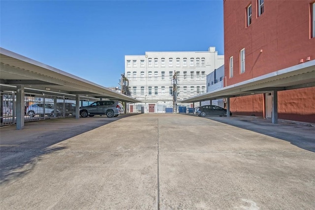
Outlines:
[[[315,127],[139,114],[0,132],[3,210],[315,207]]]

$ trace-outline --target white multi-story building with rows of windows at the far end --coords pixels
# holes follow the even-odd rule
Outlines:
[[[163,113],[173,107],[173,75],[177,72],[177,102],[206,92],[206,76],[224,64],[215,47],[202,52],[146,52],[125,56],[130,93],[143,103],[130,104],[129,112]],[[189,106],[189,105],[188,105]]]

